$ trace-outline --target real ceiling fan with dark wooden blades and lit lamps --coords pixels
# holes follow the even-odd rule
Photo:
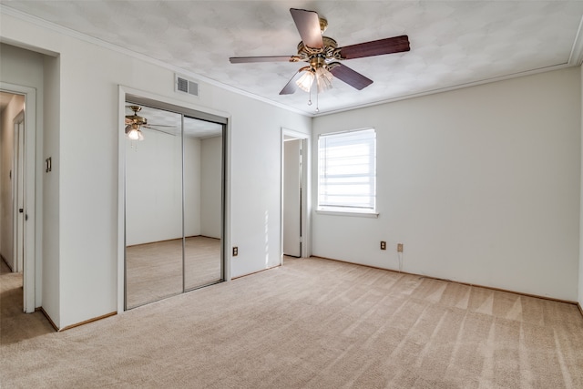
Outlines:
[[[351,87],[361,90],[371,85],[373,80],[364,77],[338,61],[401,53],[410,50],[408,36],[394,36],[357,45],[338,47],[334,39],[322,36],[328,26],[326,19],[318,16],[315,11],[291,8],[290,12],[302,37],[302,41],[298,44],[298,54],[296,56],[234,56],[229,58],[231,64],[307,62],[308,66],[298,70],[287,85],[281,89],[280,95],[290,95],[298,87],[309,92],[312,90],[314,81],[317,85],[317,92],[328,90],[332,88],[333,77],[339,78]],[[311,101],[308,104],[311,104]]]

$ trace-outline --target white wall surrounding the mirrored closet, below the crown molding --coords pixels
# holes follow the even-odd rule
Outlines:
[[[309,133],[310,118],[205,83],[200,83],[199,99],[179,95],[169,68],[2,12],[3,39],[59,54],[53,64],[59,72],[50,81],[59,86],[58,107],[51,106],[53,112],[47,113],[58,129],[46,134],[50,139],[45,141],[54,161],[51,179],[58,179],[58,190],[51,188],[50,193],[51,197],[57,193],[57,203],[45,206],[55,205],[57,214],[51,220],[58,220],[58,243],[51,246],[58,250],[53,263],[58,270],[50,273],[49,281],[58,285],[60,306],[55,317],[49,314],[59,328],[118,309],[118,132],[122,130],[118,85],[185,107],[227,113],[228,233],[230,243],[240,249],[230,262],[230,275],[279,264],[280,128]]]

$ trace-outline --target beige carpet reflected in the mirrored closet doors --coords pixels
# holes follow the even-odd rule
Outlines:
[[[129,308],[183,292],[182,240],[128,246],[126,258]],[[184,290],[222,280],[220,240],[187,238],[184,261]]]

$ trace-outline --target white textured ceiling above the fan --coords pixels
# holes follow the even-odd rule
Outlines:
[[[350,59],[372,78],[358,91],[334,79],[321,114],[580,65],[583,1],[3,1],[188,77],[306,115],[308,94],[279,92],[303,63],[230,64],[230,56],[287,56],[301,38],[289,9],[318,12],[338,46],[407,35],[411,51]],[[204,97],[204,89],[200,91]]]

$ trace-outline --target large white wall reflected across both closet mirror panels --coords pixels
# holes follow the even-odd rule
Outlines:
[[[126,243],[182,237],[181,137],[143,129],[126,140]],[[200,140],[184,139],[185,233],[200,234]]]

